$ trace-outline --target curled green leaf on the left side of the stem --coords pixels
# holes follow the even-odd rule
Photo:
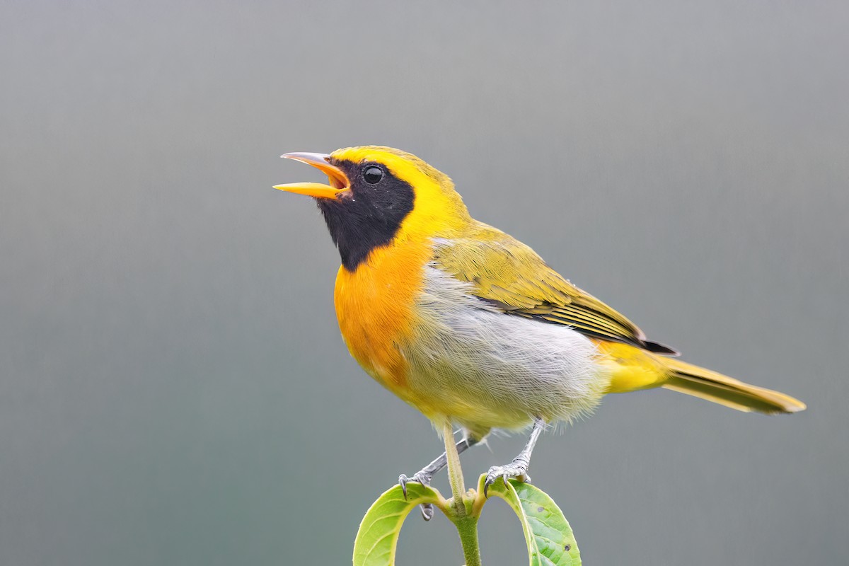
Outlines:
[[[378,497],[368,508],[354,541],[354,566],[391,566],[395,563],[398,533],[408,513],[419,503],[433,503],[443,511],[446,501],[439,491],[418,483],[407,485],[407,499],[400,485]]]

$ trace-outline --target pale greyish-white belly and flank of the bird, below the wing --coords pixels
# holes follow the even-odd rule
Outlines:
[[[610,376],[593,342],[559,324],[507,315],[435,266],[418,300],[424,318],[402,345],[413,396],[471,429],[571,420],[598,405]]]

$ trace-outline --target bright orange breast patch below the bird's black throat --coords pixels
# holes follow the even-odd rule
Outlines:
[[[407,361],[398,348],[409,336],[413,301],[424,284],[430,247],[404,242],[374,249],[348,272],[340,267],[334,302],[342,337],[363,369],[404,397]]]

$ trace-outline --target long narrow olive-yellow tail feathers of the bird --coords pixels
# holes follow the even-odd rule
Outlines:
[[[713,401],[738,411],[766,413],[799,412],[805,409],[801,401],[771,389],[744,384],[734,378],[711,372],[672,358],[657,358],[672,372],[661,387],[686,395]]]

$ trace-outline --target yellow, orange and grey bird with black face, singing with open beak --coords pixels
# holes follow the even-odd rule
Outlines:
[[[662,387],[739,411],[798,412],[801,401],[674,356],[578,289],[533,249],[469,216],[453,182],[418,157],[380,146],[282,157],[329,184],[277,185],[318,203],[341,263],[334,301],[348,350],[378,383],[436,425],[464,429],[464,451],[492,429],[532,426],[497,479],[526,479],[549,424],[602,396]],[[429,484],[446,455],[399,481]],[[432,508],[423,509],[430,518]]]

